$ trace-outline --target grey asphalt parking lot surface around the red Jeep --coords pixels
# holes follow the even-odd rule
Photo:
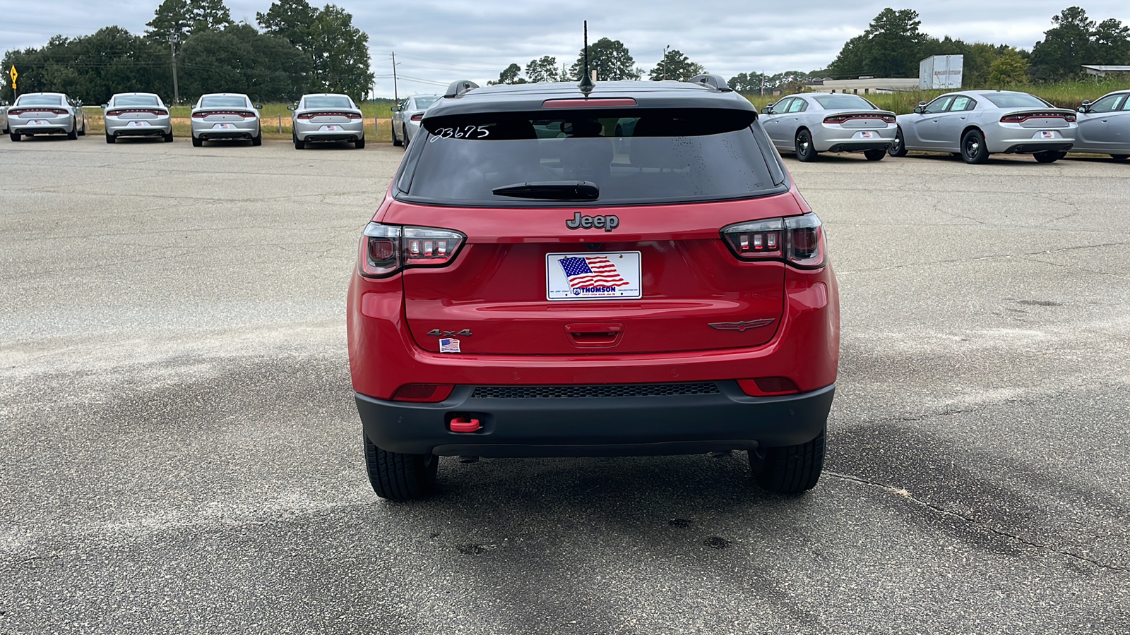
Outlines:
[[[786,158],[828,227],[824,477],[366,481],[357,237],[401,151],[0,141],[0,633],[1123,633],[1130,165]]]

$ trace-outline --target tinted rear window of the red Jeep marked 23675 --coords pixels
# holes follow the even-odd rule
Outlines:
[[[744,199],[785,180],[747,111],[485,113],[425,119],[424,128],[397,185],[400,198],[425,203],[576,206],[494,192],[570,181],[599,189],[581,205]]]

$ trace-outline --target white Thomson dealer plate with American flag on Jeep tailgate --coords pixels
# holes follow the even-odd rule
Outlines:
[[[640,252],[546,254],[546,299],[643,297]]]

